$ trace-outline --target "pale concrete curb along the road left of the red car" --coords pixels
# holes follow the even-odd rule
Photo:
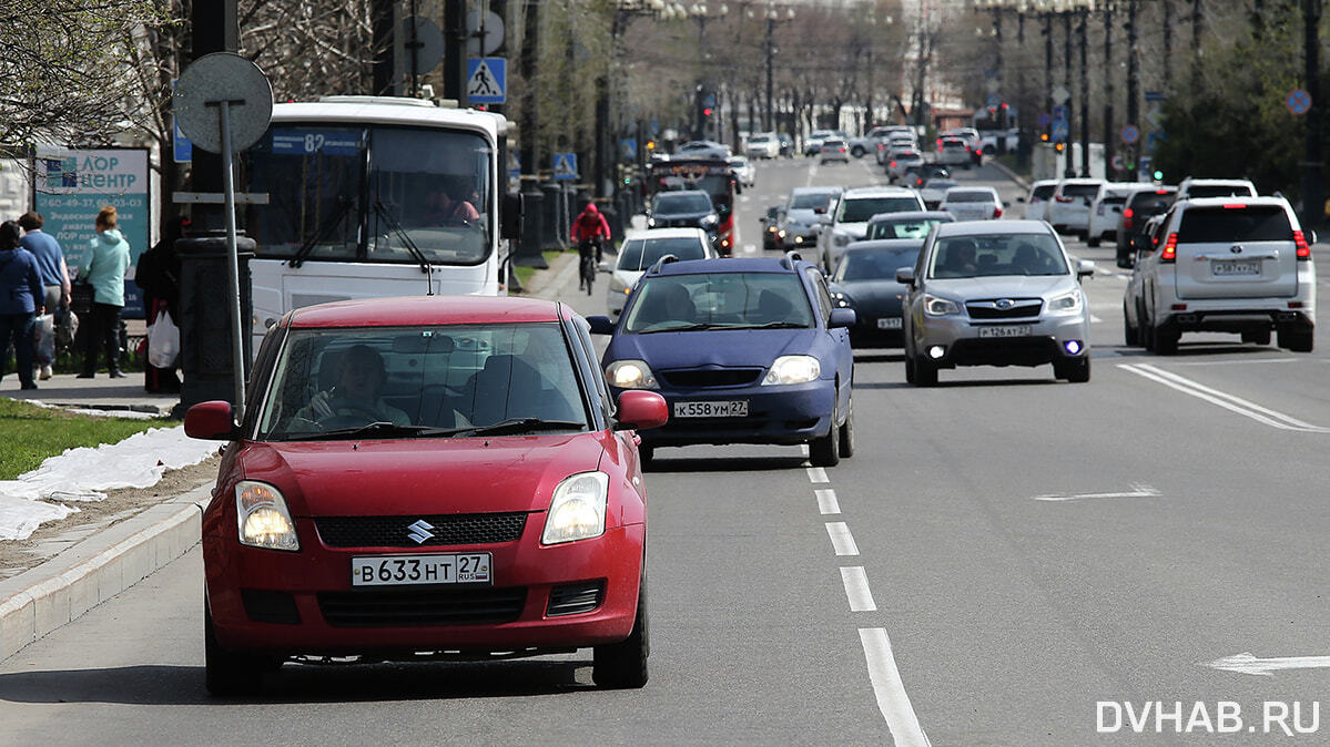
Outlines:
[[[184,556],[202,532],[211,484],[157,504],[0,581],[0,661]]]

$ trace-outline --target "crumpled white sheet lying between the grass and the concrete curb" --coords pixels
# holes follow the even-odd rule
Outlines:
[[[27,540],[44,521],[78,510],[60,502],[100,501],[101,490],[149,488],[168,469],[198,464],[217,444],[185,435],[185,427],[150,428],[97,448],[65,449],[17,480],[0,480],[0,541]]]

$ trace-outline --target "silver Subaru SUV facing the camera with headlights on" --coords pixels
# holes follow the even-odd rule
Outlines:
[[[1089,381],[1089,303],[1075,261],[1043,221],[940,223],[914,267],[896,270],[906,381],[938,383],[939,368],[1053,364]]]

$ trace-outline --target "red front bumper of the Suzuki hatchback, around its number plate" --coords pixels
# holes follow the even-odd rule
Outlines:
[[[311,518],[295,524],[299,552],[242,546],[225,521],[205,522],[207,603],[222,647],[279,655],[569,649],[614,643],[633,627],[641,524],[543,546],[544,513],[533,513],[515,542],[422,549],[330,548]],[[432,552],[491,553],[492,585],[351,586],[352,557]],[[593,609],[548,614],[552,595],[585,601],[597,587]]]

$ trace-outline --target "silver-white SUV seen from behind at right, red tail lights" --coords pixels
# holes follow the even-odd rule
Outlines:
[[[1177,352],[1182,332],[1310,352],[1317,324],[1315,234],[1282,197],[1180,199],[1144,247],[1123,298],[1128,344]]]

